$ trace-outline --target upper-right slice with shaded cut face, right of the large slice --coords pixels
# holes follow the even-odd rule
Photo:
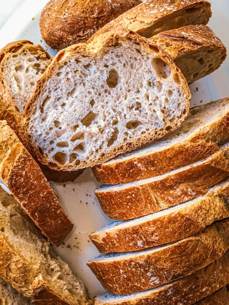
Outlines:
[[[222,41],[204,25],[190,25],[151,37],[173,58],[188,84],[217,70],[227,56]]]

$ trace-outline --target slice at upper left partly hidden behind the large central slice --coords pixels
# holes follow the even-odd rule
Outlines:
[[[25,104],[51,60],[40,45],[28,40],[9,43],[0,50],[0,120],[6,120],[23,143],[21,120]],[[67,173],[38,165],[45,177],[55,182],[74,181],[82,174],[82,171]]]

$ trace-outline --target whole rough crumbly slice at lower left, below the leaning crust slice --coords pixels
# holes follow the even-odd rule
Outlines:
[[[86,304],[84,285],[21,209],[0,188],[0,276],[44,305]]]

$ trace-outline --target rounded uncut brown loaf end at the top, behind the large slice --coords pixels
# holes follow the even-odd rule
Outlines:
[[[42,38],[61,50],[87,41],[106,23],[141,3],[141,0],[51,0],[42,10]]]

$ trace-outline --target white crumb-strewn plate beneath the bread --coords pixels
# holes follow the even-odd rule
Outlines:
[[[25,1],[0,30],[0,48],[12,41],[27,39],[34,44],[41,44],[51,56],[54,56],[56,51],[47,47],[44,41],[40,41],[42,38],[39,16],[47,2],[47,0]],[[210,2],[213,17],[209,26],[229,50],[228,0],[210,0]],[[229,57],[220,69],[191,85],[193,94],[191,106],[199,105],[200,101],[206,103],[229,96],[228,84]],[[103,293],[104,289],[86,266],[88,260],[99,255],[95,246],[89,241],[88,234],[112,222],[104,215],[94,195],[94,189],[98,185],[90,169],[85,170],[75,182],[66,183],[65,186],[51,182],[61,205],[75,224],[65,245],[61,245],[56,251],[87,285],[91,297]]]

